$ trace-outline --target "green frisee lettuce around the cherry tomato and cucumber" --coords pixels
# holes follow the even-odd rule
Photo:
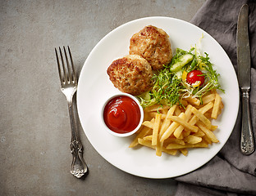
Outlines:
[[[171,72],[171,65],[177,63],[181,56],[190,54],[193,56],[188,64],[183,66],[181,70]],[[198,48],[191,47],[190,51],[182,50],[181,48],[176,49],[176,55],[173,56],[169,65],[164,65],[164,69],[159,70],[153,74],[153,88],[144,93],[144,95],[138,96],[140,105],[144,108],[151,105],[176,105],[180,104],[180,100],[185,97],[196,97],[201,100],[201,97],[208,91],[218,89],[224,92],[220,83],[220,75],[215,69],[213,64],[210,62],[208,54],[205,52],[205,56],[201,56],[198,52]],[[187,82],[183,82],[181,79],[181,73],[198,69],[203,72],[205,82],[203,86],[193,87]]]

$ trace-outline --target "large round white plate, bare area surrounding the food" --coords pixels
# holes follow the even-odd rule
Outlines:
[[[206,149],[190,149],[187,156],[162,154],[147,147],[130,149],[134,136],[120,138],[109,134],[101,121],[101,109],[109,96],[119,91],[107,76],[107,67],[113,60],[128,55],[130,38],[146,25],[163,29],[170,36],[171,49],[190,50],[202,37],[201,49],[221,74],[221,93],[225,105],[222,115],[213,121],[217,144]],[[219,43],[208,33],[183,20],[169,17],[148,17],[133,20],[108,33],[90,52],[80,73],[77,90],[77,107],[81,125],[94,149],[113,166],[135,176],[169,178],[184,175],[203,166],[222,149],[235,125],[239,106],[239,87],[231,60]]]

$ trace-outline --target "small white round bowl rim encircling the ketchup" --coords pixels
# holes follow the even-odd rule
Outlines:
[[[107,127],[106,123],[105,123],[105,120],[104,120],[104,109],[107,105],[107,103],[116,98],[117,96],[128,96],[130,97],[132,100],[135,101],[135,103],[139,106],[139,112],[140,112],[140,119],[139,119],[139,124],[137,127],[135,127],[135,129],[133,131],[129,131],[129,132],[126,132],[126,133],[117,133],[115,131],[112,131],[109,127]],[[120,93],[120,94],[117,94],[117,95],[114,95],[114,96],[111,96],[109,97],[106,102],[104,103],[103,105],[103,108],[102,108],[102,114],[101,114],[101,117],[102,117],[102,120],[103,120],[103,124],[104,124],[104,127],[106,128],[106,130],[112,134],[113,136],[119,136],[119,137],[126,137],[126,136],[131,136],[133,135],[136,131],[139,130],[139,127],[141,126],[142,122],[143,122],[143,119],[144,119],[144,110],[142,108],[141,105],[139,105],[139,100],[137,100],[137,98],[135,96],[131,96],[130,94],[127,94],[127,93]]]

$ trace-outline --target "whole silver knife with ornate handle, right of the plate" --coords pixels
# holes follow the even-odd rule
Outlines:
[[[254,153],[254,133],[249,109],[250,91],[250,51],[248,36],[248,12],[247,4],[240,9],[237,22],[236,47],[237,47],[237,66],[238,81],[242,96],[242,127],[240,149],[243,154]]]

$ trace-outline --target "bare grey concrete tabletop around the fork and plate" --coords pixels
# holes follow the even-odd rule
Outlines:
[[[89,175],[70,174],[71,140],[54,47],[70,45],[80,72],[112,29],[144,16],[189,21],[205,0],[0,1],[0,195],[173,195],[172,179],[107,163],[78,123]]]

